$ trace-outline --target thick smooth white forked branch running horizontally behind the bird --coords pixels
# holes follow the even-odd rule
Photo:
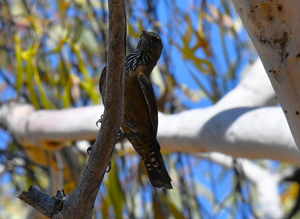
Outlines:
[[[300,163],[300,154],[270,82],[257,61],[240,84],[217,104],[166,115],[159,113],[158,142],[163,152],[218,151],[234,157]],[[67,140],[93,140],[103,105],[38,110],[3,105],[0,123],[21,145],[57,149]]]

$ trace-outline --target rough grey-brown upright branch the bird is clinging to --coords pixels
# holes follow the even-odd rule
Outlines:
[[[91,150],[83,176],[76,189],[54,198],[34,187],[17,197],[49,218],[91,218],[95,199],[110,162],[123,118],[124,66],[126,52],[125,1],[108,1],[109,43],[106,81],[106,107],[100,131]],[[121,52],[120,52],[121,51]],[[124,51],[124,52],[122,52]],[[95,118],[95,122],[98,118]],[[62,208],[62,209],[61,209]]]

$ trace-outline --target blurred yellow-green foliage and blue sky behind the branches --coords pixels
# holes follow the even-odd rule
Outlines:
[[[128,0],[127,19],[128,53],[142,29],[162,38],[163,54],[151,80],[165,113],[216,103],[256,58],[228,0]],[[107,1],[0,0],[0,102],[22,101],[36,109],[100,103],[107,42]],[[18,145],[5,128],[0,134],[7,143],[0,151],[0,218],[40,217],[12,197],[30,185],[50,195],[76,187],[87,161],[79,142],[41,151]],[[152,188],[140,158],[122,144],[101,185],[95,218],[255,217],[250,200],[255,191],[233,170],[182,153],[164,159],[171,192]],[[218,190],[224,185],[227,190]],[[290,202],[296,189],[288,187],[283,199]]]

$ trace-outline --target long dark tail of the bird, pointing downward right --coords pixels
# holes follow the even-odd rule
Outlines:
[[[155,144],[156,143],[158,144],[157,141],[155,141]],[[168,174],[163,157],[161,156],[161,152],[159,150],[160,149],[159,144],[153,148],[155,149],[155,153],[153,156],[155,158],[155,164],[153,165],[153,162],[151,162],[151,166],[149,166],[149,164],[147,165],[145,163],[149,180],[153,187],[157,187],[157,188],[165,187],[166,189],[173,189],[171,185],[172,179]],[[156,163],[158,165],[156,165]]]

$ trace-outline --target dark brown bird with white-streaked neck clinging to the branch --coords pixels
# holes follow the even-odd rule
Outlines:
[[[137,48],[126,55],[124,78],[124,117],[117,142],[127,138],[145,164],[153,187],[173,189],[160,145],[156,139],[158,109],[149,76],[156,66],[163,44],[158,34],[142,30]],[[99,91],[105,107],[106,66]],[[101,116],[102,118],[102,116]],[[101,119],[100,119],[101,121]],[[122,132],[122,133],[121,133]]]

